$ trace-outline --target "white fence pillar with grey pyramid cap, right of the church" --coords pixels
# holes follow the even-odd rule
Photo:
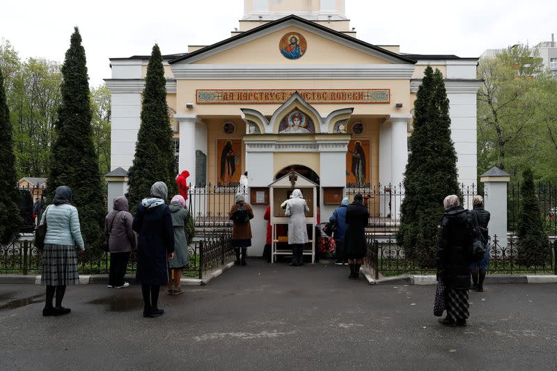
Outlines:
[[[484,184],[484,206],[491,214],[489,234],[499,236],[499,246],[507,247],[507,188],[510,174],[492,167],[482,175]]]

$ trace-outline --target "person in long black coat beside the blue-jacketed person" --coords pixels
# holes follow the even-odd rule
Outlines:
[[[354,202],[346,207],[346,232],[344,239],[345,256],[348,258],[350,276],[348,278],[358,279],[363,258],[368,253],[366,244],[366,226],[370,212],[363,205],[363,196],[356,194]]]

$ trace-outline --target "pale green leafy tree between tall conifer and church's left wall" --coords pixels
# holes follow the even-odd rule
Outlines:
[[[106,85],[91,89],[91,111],[93,111],[93,144],[99,159],[101,174],[110,171],[110,90]]]

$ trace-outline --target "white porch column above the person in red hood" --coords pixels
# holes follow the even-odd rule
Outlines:
[[[196,180],[196,115],[174,116],[180,123],[180,153],[178,155],[178,172],[189,171],[189,181]],[[178,174],[177,174],[178,175]]]

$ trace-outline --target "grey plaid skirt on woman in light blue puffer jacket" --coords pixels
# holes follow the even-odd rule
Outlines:
[[[49,286],[79,283],[75,246],[45,244],[40,283]]]

